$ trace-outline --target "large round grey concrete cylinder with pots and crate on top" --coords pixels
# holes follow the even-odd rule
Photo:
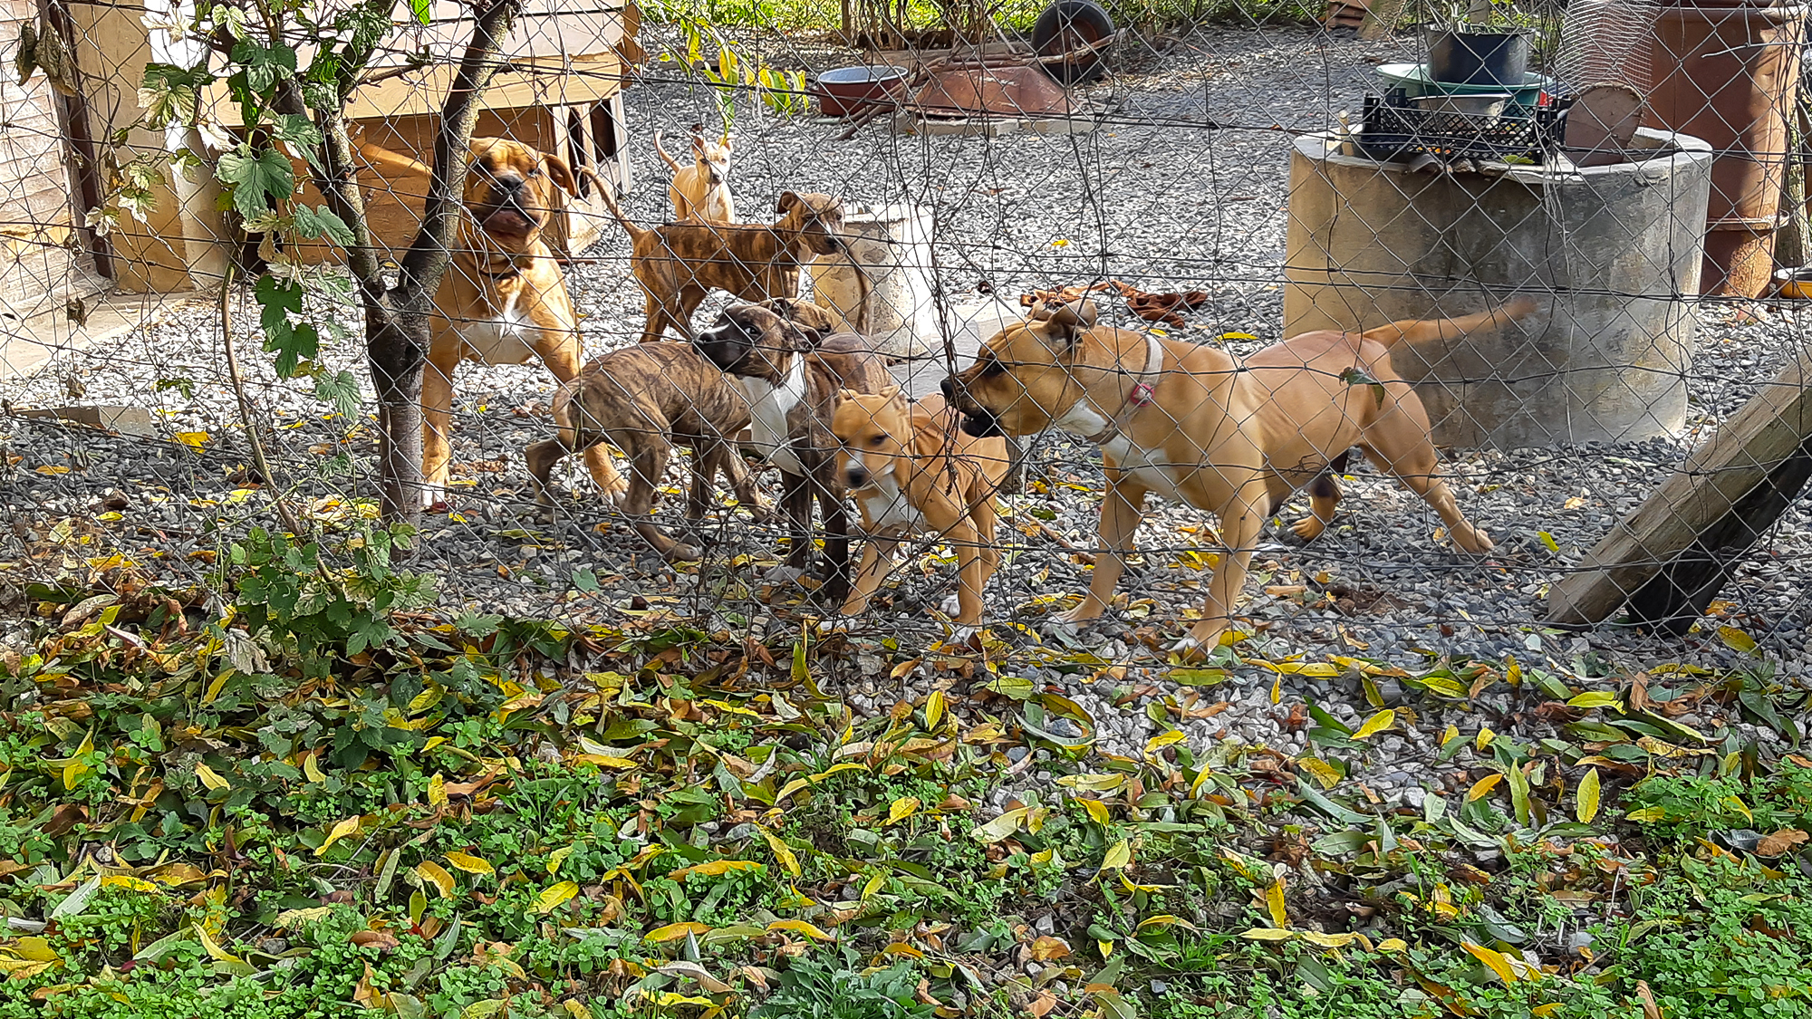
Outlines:
[[[1640,131],[1640,161],[1412,172],[1290,154],[1285,335],[1464,315],[1528,294],[1540,312],[1502,330],[1399,346],[1393,363],[1435,442],[1515,450],[1631,442],[1685,424],[1712,150]]]

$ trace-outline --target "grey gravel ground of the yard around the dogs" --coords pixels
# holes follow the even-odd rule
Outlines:
[[[1279,27],[1160,40],[1142,49],[1111,85],[1096,89],[1093,98],[1118,111],[1111,121],[1075,138],[919,138],[870,127],[837,141],[841,125],[812,118],[756,120],[745,107],[736,123],[737,201],[750,216],[772,209],[785,189],[828,190],[863,203],[933,205],[939,281],[951,301],[988,290],[1011,299],[1031,286],[1109,274],[1152,290],[1209,292],[1210,305],[1192,317],[1185,335],[1247,332],[1258,339],[1236,346],[1256,348],[1277,339],[1281,321],[1290,132],[1321,131],[1341,109],[1357,107],[1372,67],[1408,58],[1408,45]],[[805,49],[768,58],[815,67],[841,60]],[[656,127],[672,134],[716,116],[703,89],[672,82],[634,87],[629,109],[638,156]],[[1219,127],[1210,129],[1210,121]],[[638,163],[641,187],[627,201],[640,221],[665,216],[665,189],[651,163],[652,158]],[[569,279],[589,352],[600,354],[632,341],[641,299],[627,283],[627,241],[620,230],[612,227],[587,256],[596,261],[574,267]],[[236,308],[237,328],[250,332],[255,308],[248,296],[236,296]],[[1740,317],[1730,308],[1707,306],[1703,319],[1689,379],[1692,421],[1683,435],[1616,448],[1460,453],[1450,462],[1462,508],[1499,542],[1489,557],[1453,553],[1435,539],[1439,520],[1424,504],[1372,468],[1355,468],[1337,526],[1317,542],[1305,548],[1281,528],[1270,531],[1248,584],[1252,600],[1243,609],[1261,627],[1247,655],[1272,660],[1297,653],[1306,660],[1354,655],[1428,667],[1441,656],[1500,660],[1513,653],[1528,667],[1575,676],[1575,684],[1580,676],[1605,674],[1605,662],[1752,664],[1720,642],[1712,626],[1683,640],[1656,640],[1614,627],[1562,635],[1538,622],[1542,597],[1560,571],[1803,341],[1790,310]],[[268,437],[272,455],[283,464],[297,504],[333,526],[355,519],[361,508],[352,493],[368,495],[368,488],[348,471],[362,471],[370,457],[368,419],[339,417],[308,384],[277,383],[268,366],[257,364],[261,357],[248,361],[252,392],[275,422]],[[357,374],[355,334],[330,335],[319,364],[330,374]],[[641,597],[652,609],[705,616],[712,629],[776,633],[794,626],[790,597],[768,604],[750,587],[757,573],[752,566],[774,558],[779,537],[772,529],[723,510],[705,526],[707,562],[676,573],[591,497],[565,504],[556,524],[540,524],[525,500],[518,450],[547,432],[551,377],[538,366],[467,366],[457,388],[457,475],[469,484],[453,513],[428,520],[420,555],[440,575],[449,611],[612,620],[622,618],[632,597]],[[270,520],[263,495],[246,497],[239,488],[246,477],[245,433],[225,384],[219,325],[208,303],[172,299],[161,321],[134,335],[65,354],[31,379],[0,381],[0,397],[16,406],[150,406],[172,437],[207,433],[190,435],[196,450],[179,441],[105,437],[0,419],[5,451],[0,504],[13,520],[11,531],[0,535],[0,560],[34,557],[24,569],[0,573],[0,580],[13,577],[13,595],[20,577],[49,578],[60,568],[80,575],[109,551],[138,558],[172,580],[205,582],[208,562],[232,535]],[[1071,544],[1091,546],[1098,464],[1098,455],[1082,442],[1042,442],[1033,468],[1047,491],[1009,499],[1007,520],[1024,531],[1044,522]],[[573,464],[567,479],[578,480]],[[82,522],[58,531],[58,520],[67,517]],[[1152,667],[1158,658],[1149,642],[1174,633],[1171,620],[1200,606],[1207,573],[1190,546],[1200,542],[1196,535],[1205,524],[1201,513],[1154,499],[1140,531],[1142,564],[1122,586],[1127,607],[1080,635],[1040,620],[1056,597],[1087,584],[1087,569],[1047,537],[1009,529],[1011,549],[989,602],[1002,615],[1024,607],[1022,618],[1035,629],[1042,626],[1044,644],[1009,631],[1018,651],[1007,656],[1007,671],[1056,684],[1055,689],[1075,696],[1102,723],[1104,745],[1118,752],[1136,749],[1156,731],[1140,709],[1154,696],[1227,700],[1223,713],[1190,725],[1198,740],[1238,736],[1285,751],[1303,745],[1301,734],[1287,733],[1281,722],[1294,702],[1316,698],[1348,720],[1370,711],[1359,685],[1345,678],[1285,676],[1279,709],[1272,674],[1258,667],[1236,667],[1236,682],[1218,691],[1178,687]],[[1812,658],[1812,620],[1801,586],[1792,580],[1794,564],[1812,551],[1808,524],[1803,504],[1788,511],[1720,606],[1720,622],[1754,635],[1790,682],[1801,682]],[[1306,593],[1294,593],[1297,586]],[[944,626],[928,609],[949,587],[948,569],[937,569],[935,560],[906,571],[892,604],[877,611],[868,629],[857,631],[857,644],[866,636],[899,636],[901,647],[910,649],[940,636]],[[1105,665],[1129,669],[1078,674],[1071,660],[1084,651]],[[881,656],[852,655],[843,669],[868,707],[884,711],[899,693]],[[904,682],[924,684],[928,674]],[[1515,698],[1522,694],[1499,689],[1506,693],[1486,694],[1479,709],[1522,734],[1540,736],[1546,723],[1518,714],[1522,702]],[[1111,707],[1127,691],[1131,707]],[[1383,763],[1368,781],[1415,796],[1430,781],[1428,754],[1444,722],[1433,711],[1402,736],[1386,736],[1379,743]]]

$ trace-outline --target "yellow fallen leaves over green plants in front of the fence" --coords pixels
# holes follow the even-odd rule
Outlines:
[[[31,656],[5,662],[34,700],[7,714],[18,752],[0,796],[36,818],[51,850],[0,863],[18,932],[0,943],[0,970],[33,994],[174,965],[185,946],[210,974],[245,977],[317,950],[294,945],[299,932],[344,923],[362,968],[353,1001],[395,1015],[420,1015],[429,977],[458,966],[506,986],[466,1019],[527,995],[573,1003],[560,1006],[574,1019],[587,995],[718,1015],[759,1001],[788,959],[832,946],[872,966],[910,961],[940,1017],[989,997],[1035,1017],[1129,1017],[1142,974],[1201,952],[1229,966],[1288,961],[1308,986],[1363,954],[1466,1015],[1468,992],[1442,975],[1455,957],[1531,988],[1596,965],[1508,916],[1504,859],[1535,859],[1542,894],[1582,916],[1625,908],[1654,863],[1607,838],[1618,791],[1767,763],[1729,727],[1682,722],[1703,705],[1783,731],[1796,711],[1752,676],[1687,667],[1575,689],[1515,660],[1412,673],[1236,644],[1174,669],[1190,685],[1172,693],[1131,684],[1116,707],[1142,707],[1160,733],[1113,754],[1087,709],[1002,669],[988,640],[895,655],[893,678],[944,660],[966,669],[857,718],[823,684],[839,645],[732,645],[658,613],[580,633],[422,626],[406,645],[303,678],[230,615],[194,627],[165,613],[159,626],[159,607],[78,604],[53,613],[60,626]],[[1082,653],[1015,651],[1123,678]],[[569,669],[580,655],[616,669]],[[1210,691],[1236,669],[1272,676],[1279,720],[1308,751],[1212,738],[1227,702]],[[1281,704],[1285,674],[1357,678],[1372,711],[1345,723]],[[1386,702],[1386,684],[1413,694]],[[1354,778],[1419,713],[1497,684],[1558,736],[1450,725],[1431,763],[1457,807],[1393,805]],[[565,807],[536,800],[549,783]],[[998,783],[1017,794],[977,809]],[[578,798],[598,807],[580,818],[567,810]],[[236,807],[265,820],[246,825]],[[187,830],[158,841],[147,823]],[[205,850],[170,849],[196,832]],[[1781,827],[1694,852],[1805,867],[1807,839]],[[255,901],[297,883],[319,896]],[[72,941],[103,892],[147,896],[181,921],[145,925],[123,948]],[[1238,948],[1203,948],[1229,941]],[[417,945],[419,963],[388,968]],[[533,963],[547,945],[603,945],[611,959]]]

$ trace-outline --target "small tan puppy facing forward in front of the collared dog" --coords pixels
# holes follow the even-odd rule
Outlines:
[[[964,626],[982,622],[982,587],[1000,566],[995,491],[1007,475],[1006,439],[964,435],[942,397],[908,404],[899,386],[873,395],[844,390],[830,430],[837,473],[868,535],[843,615],[868,607],[902,537],[933,533],[957,551],[957,595],[944,613]]]

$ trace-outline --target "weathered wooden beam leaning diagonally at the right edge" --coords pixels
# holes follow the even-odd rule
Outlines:
[[[1625,604],[1685,631],[1734,562],[1812,475],[1812,348],[1801,350],[1709,442],[1586,553],[1547,595],[1555,626],[1595,626]]]

